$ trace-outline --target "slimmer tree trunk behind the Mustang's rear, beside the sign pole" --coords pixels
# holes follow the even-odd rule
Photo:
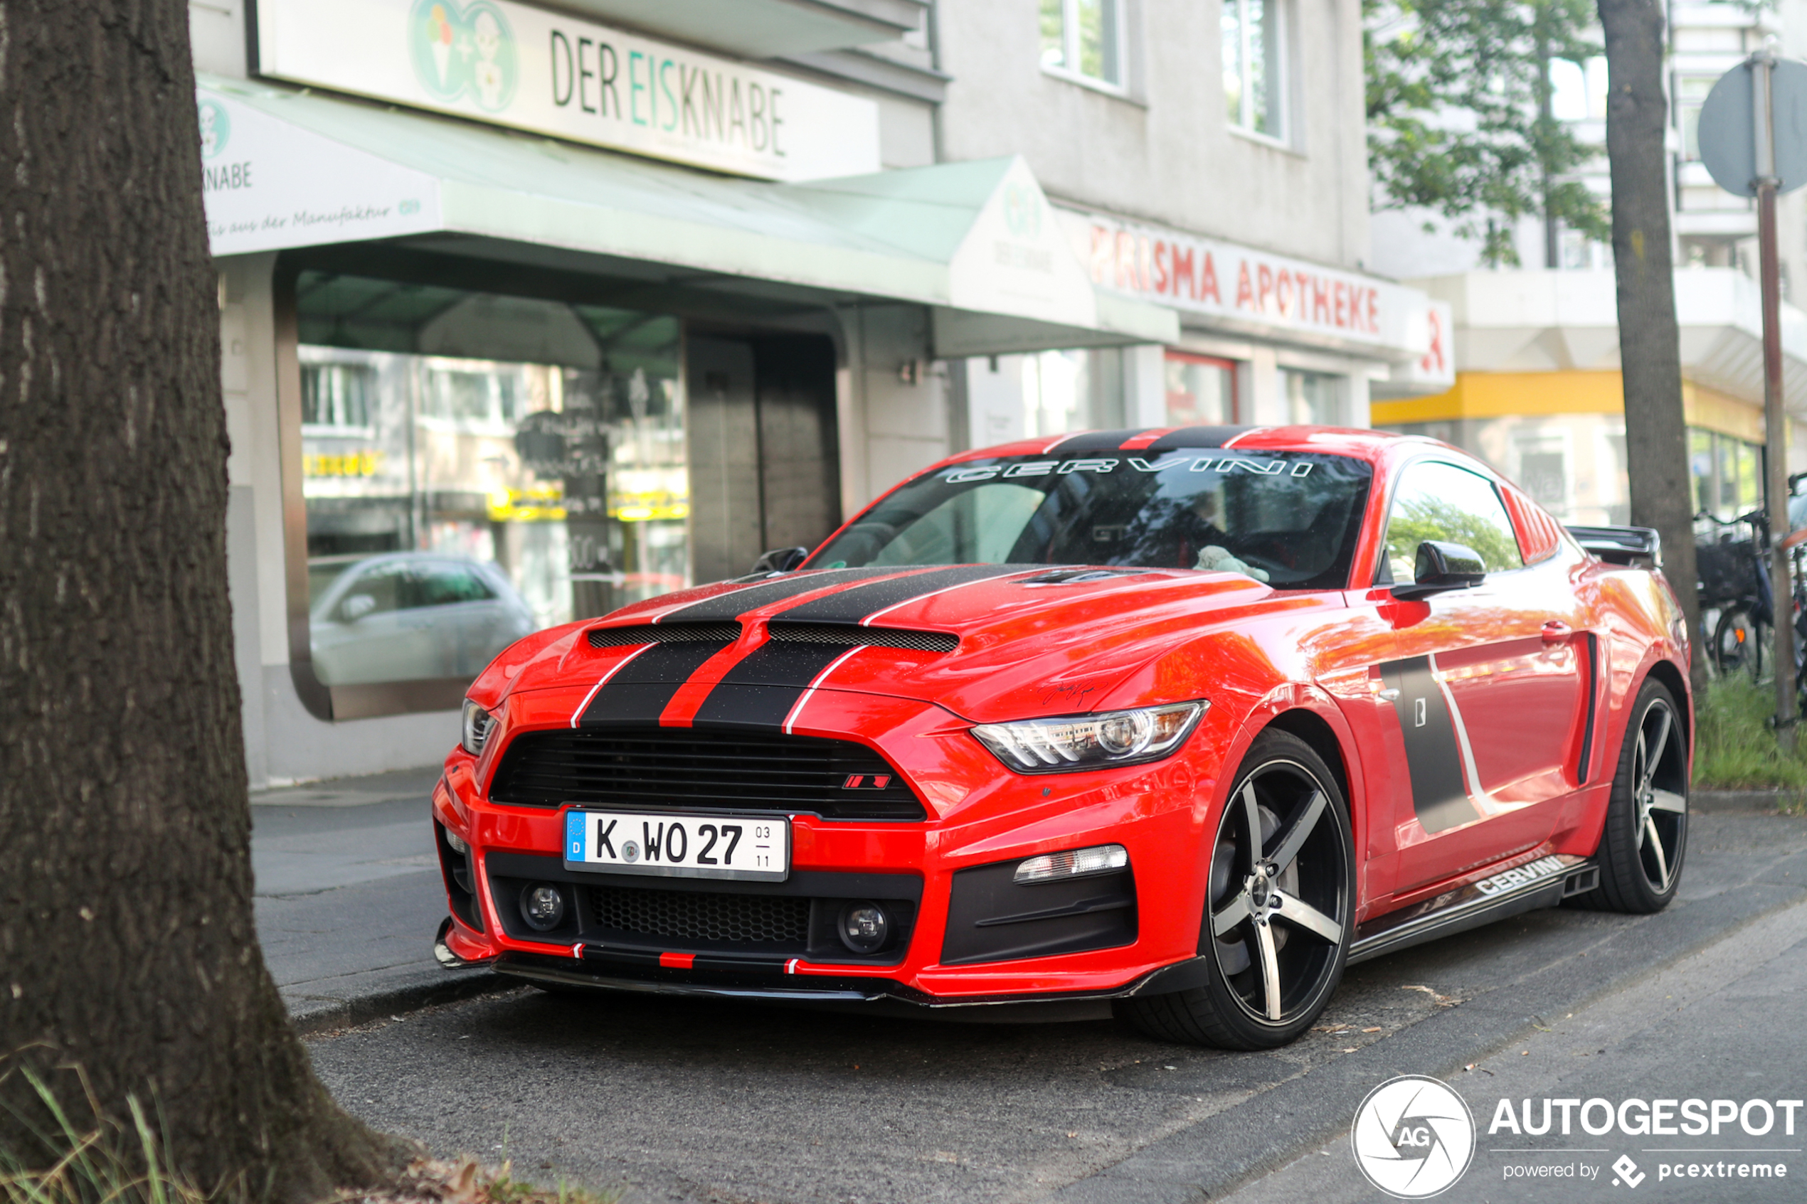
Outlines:
[[[1659,0],[1599,0],[1606,34],[1606,157],[1612,162],[1612,255],[1619,283],[1619,370],[1632,522],[1662,534],[1670,585],[1700,644],[1695,594],[1693,480],[1682,415],[1681,332],[1670,255],[1670,184]],[[1693,653],[1706,688],[1706,648]]]

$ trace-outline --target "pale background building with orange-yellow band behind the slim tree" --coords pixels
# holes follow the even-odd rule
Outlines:
[[[1708,175],[1700,105],[1765,42],[1787,56],[1807,54],[1807,4],[1673,0],[1668,14],[1670,218],[1693,504],[1726,520],[1762,504],[1756,209]],[[1606,60],[1556,61],[1550,83],[1556,117],[1599,148],[1578,179],[1606,200]],[[1426,233],[1422,222],[1422,213],[1375,215],[1377,265],[1453,307],[1456,381],[1435,395],[1377,399],[1375,426],[1460,444],[1568,522],[1626,522],[1612,249],[1572,229],[1547,236],[1541,220],[1525,220],[1514,229],[1523,267],[1489,271],[1475,244]],[[1807,314],[1796,307],[1807,280],[1807,193],[1782,197],[1778,233],[1785,408],[1807,419]],[[1791,421],[1789,430],[1787,458],[1798,471],[1807,468],[1807,424]]]

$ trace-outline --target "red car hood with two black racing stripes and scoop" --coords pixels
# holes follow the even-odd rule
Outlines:
[[[1218,673],[1290,677],[1269,650],[1305,655],[1326,605],[1341,605],[1341,592],[1272,590],[1234,572],[1008,565],[797,572],[667,594],[618,610],[584,625],[593,639],[548,643],[522,666],[513,688],[596,681],[640,644],[632,628],[663,628],[649,635],[669,637],[679,626],[701,630],[714,623],[732,637],[739,623],[746,657],[786,634],[851,650],[866,637],[909,643],[898,634],[929,632],[940,643],[952,635],[958,644],[941,650],[875,643],[833,662],[829,673],[822,653],[815,661],[801,655],[799,679],[786,684],[934,702],[978,722],[1072,715],[1196,697],[1200,682]],[[1292,630],[1263,637],[1259,628]],[[701,661],[698,655],[699,673],[723,671],[721,659],[710,661],[714,670]],[[1175,671],[1164,673],[1169,661]],[[634,657],[609,681],[652,682],[670,671],[669,664],[670,657]],[[1133,697],[1113,697],[1131,677]]]

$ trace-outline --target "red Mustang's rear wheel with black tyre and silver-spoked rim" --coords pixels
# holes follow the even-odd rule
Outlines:
[[[1634,915],[1661,912],[1675,897],[1686,854],[1688,724],[1675,695],[1644,679],[1624,727],[1606,825],[1594,852],[1599,886],[1581,904]]]

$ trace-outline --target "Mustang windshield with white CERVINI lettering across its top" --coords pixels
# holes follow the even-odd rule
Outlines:
[[[994,457],[902,486],[810,558],[866,565],[1122,565],[1343,588],[1372,471],[1308,451]]]

